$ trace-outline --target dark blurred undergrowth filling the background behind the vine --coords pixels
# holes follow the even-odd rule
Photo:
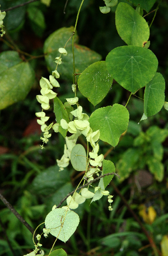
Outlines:
[[[1,10],[25,2],[27,1],[0,0]],[[128,3],[126,0],[119,2]],[[159,2],[156,1],[152,10],[155,10]],[[60,134],[54,134],[45,149],[40,149],[41,131],[35,118],[35,112],[41,111],[36,101],[36,95],[40,91],[39,80],[41,76],[48,78],[49,75],[44,59],[44,42],[55,30],[74,26],[80,3],[79,0],[69,0],[64,14],[66,0],[52,0],[49,7],[40,1],[34,1],[6,11],[4,19],[6,35],[0,42],[1,68],[4,51],[15,50],[22,60],[29,60],[35,70],[35,80],[25,100],[9,104],[1,110],[0,192],[34,228],[44,221],[54,204],[58,204],[73,190],[80,178],[71,167],[58,172],[56,159],[62,156],[64,145]],[[99,10],[99,6],[103,4],[102,0],[85,0],[78,20],[78,48],[82,45],[98,53],[92,53],[91,62],[94,62],[93,56],[95,61],[101,58],[105,60],[113,48],[125,45],[116,32],[115,7],[105,15]],[[130,1],[129,4],[132,5]],[[154,12],[147,16],[149,23],[153,14]],[[168,4],[166,0],[162,0],[151,26],[150,49],[157,56],[158,71],[164,76],[166,85],[167,20]],[[61,33],[59,40],[61,43]],[[59,44],[58,47],[63,45]],[[77,55],[76,61],[83,70],[86,68],[85,62],[89,65],[88,57],[82,53]],[[71,70],[72,67],[69,66],[61,77],[63,79],[59,80],[60,100],[73,97]],[[143,98],[143,90],[139,90],[139,98],[132,97],[129,102],[128,110],[132,122],[128,131],[120,138],[119,145],[113,149],[108,143],[100,144],[102,154],[105,154],[107,160],[114,162],[116,172],[121,176],[120,180],[115,177],[108,187],[110,194],[114,195],[114,210],[108,211],[108,202],[104,197],[90,206],[86,201],[76,210],[80,215],[77,231],[66,244],[58,242],[55,248],[61,246],[69,255],[150,256],[153,255],[153,243],[158,248],[155,255],[168,255],[168,249],[165,249],[168,244],[167,112],[162,109],[160,113],[138,124],[143,114],[143,102],[140,99]],[[165,101],[168,101],[167,94],[166,88]],[[115,103],[125,105],[129,95],[114,81],[108,96],[95,108],[80,92],[78,97],[83,101],[85,113],[89,115],[98,107]],[[50,114],[50,118],[55,119],[54,113]],[[81,143],[85,146],[82,138]],[[152,164],[153,159],[157,160],[157,165]],[[160,170],[163,168],[164,175],[161,177]],[[0,255],[30,253],[34,249],[32,234],[2,202],[0,206]],[[43,241],[46,251],[51,248],[53,237],[47,241]]]

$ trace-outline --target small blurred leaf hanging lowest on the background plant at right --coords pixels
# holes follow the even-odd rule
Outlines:
[[[157,181],[162,181],[164,178],[164,165],[158,159],[151,158],[148,160],[148,168],[154,174]]]

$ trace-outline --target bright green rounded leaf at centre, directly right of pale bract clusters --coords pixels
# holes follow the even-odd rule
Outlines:
[[[91,114],[89,120],[93,132],[100,130],[100,140],[115,147],[128,127],[128,110],[120,104],[101,107]]]

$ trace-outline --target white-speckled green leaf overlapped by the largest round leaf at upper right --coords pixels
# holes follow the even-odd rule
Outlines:
[[[112,83],[105,61],[98,61],[82,72],[78,78],[78,89],[96,106],[108,94]]]

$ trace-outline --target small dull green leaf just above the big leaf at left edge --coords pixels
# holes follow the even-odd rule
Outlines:
[[[12,66],[15,66],[22,62],[18,52],[15,51],[4,51],[0,54],[0,74]]]

